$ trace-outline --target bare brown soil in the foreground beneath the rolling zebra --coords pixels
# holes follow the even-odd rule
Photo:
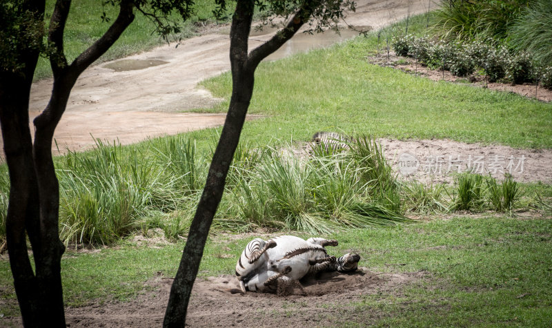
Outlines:
[[[195,282],[187,325],[191,327],[303,327],[334,326],[341,315],[359,325],[369,324],[367,313],[355,311],[352,302],[370,294],[400,296],[403,287],[427,276],[425,272],[373,273],[361,268],[357,273],[326,273],[303,282],[306,296],[286,297],[269,293],[232,294],[237,288],[234,276],[218,276]],[[70,327],[160,327],[168,302],[172,279],[157,276],[146,282],[152,289],[132,302],[99,302],[88,307],[66,309]],[[373,315],[373,313],[371,313]]]

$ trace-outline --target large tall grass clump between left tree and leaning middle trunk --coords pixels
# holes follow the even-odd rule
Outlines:
[[[137,228],[151,211],[175,209],[183,195],[177,179],[133,149],[97,142],[86,154],[70,152],[58,169],[60,236],[66,243],[109,243]]]

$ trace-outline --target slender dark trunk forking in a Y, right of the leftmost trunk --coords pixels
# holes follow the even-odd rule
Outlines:
[[[57,46],[57,56],[50,58],[54,86],[48,106],[34,119],[35,133],[32,148],[41,222],[41,253],[35,256],[39,299],[42,301],[41,312],[58,313],[59,325],[65,325],[61,287],[61,255],[65,247],[59,240],[59,182],[52,158],[54,132],[66,110],[70,92],[79,75],[117,41],[134,19],[132,3],[122,1],[119,15],[112,26],[95,44],[68,65],[63,53],[63,29],[69,14],[70,3],[70,0],[58,0],[52,13],[50,25],[53,28],[49,32],[48,40]]]

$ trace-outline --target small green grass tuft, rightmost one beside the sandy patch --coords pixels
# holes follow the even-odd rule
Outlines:
[[[486,179],[486,184],[489,191],[489,204],[495,211],[511,211],[515,202],[520,200],[520,187],[512,177],[506,177],[502,184],[497,184],[496,179],[489,176]]]

